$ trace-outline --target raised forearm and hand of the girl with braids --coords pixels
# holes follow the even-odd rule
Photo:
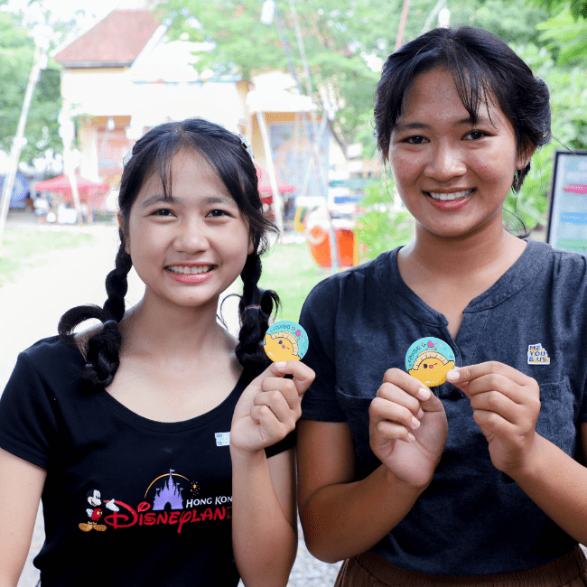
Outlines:
[[[293,379],[283,378],[286,373]],[[297,550],[293,449],[265,448],[292,432],[313,371],[274,363],[243,392],[230,430],[232,545],[247,587],[285,585]]]

